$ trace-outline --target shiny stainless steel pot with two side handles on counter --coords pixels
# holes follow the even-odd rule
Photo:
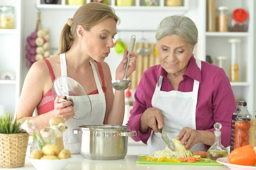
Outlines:
[[[125,158],[128,136],[136,136],[135,131],[128,131],[128,126],[87,125],[73,129],[81,135],[81,155],[86,159],[115,160]]]

